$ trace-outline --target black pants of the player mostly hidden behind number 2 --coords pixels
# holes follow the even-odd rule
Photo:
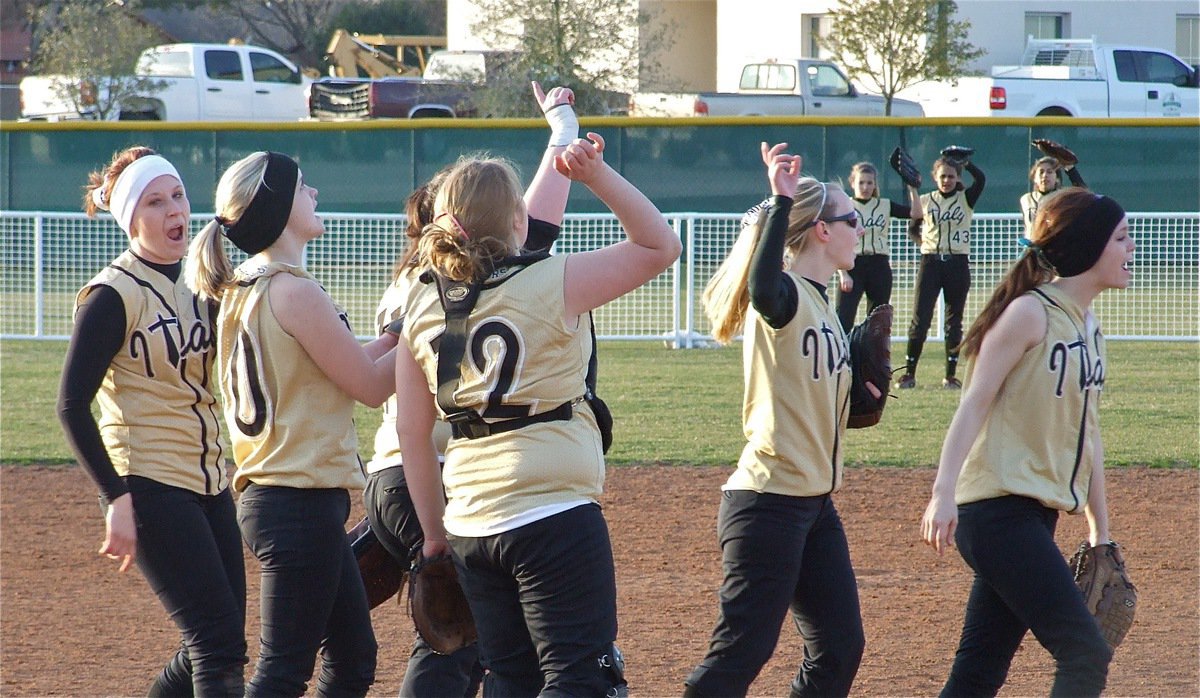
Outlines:
[[[392,558],[408,568],[409,552],[425,541],[421,523],[408,494],[404,469],[400,465],[367,475],[362,493],[371,530]],[[401,698],[470,698],[479,692],[484,667],[479,646],[466,646],[452,655],[439,655],[418,634],[400,686]]]

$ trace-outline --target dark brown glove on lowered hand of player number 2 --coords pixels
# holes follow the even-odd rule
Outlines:
[[[408,613],[421,639],[439,655],[454,654],[479,637],[450,555],[425,559],[416,554],[409,572]]]

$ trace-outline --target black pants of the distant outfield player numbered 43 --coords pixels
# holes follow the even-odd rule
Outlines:
[[[946,299],[946,375],[954,375],[962,343],[962,311],[971,290],[971,265],[966,254],[922,254],[913,294],[912,324],[908,325],[907,372],[916,373],[934,321],[937,295]]]

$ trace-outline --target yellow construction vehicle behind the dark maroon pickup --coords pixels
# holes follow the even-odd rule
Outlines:
[[[445,46],[444,36],[352,34],[338,29],[329,40],[325,60],[334,78],[419,78],[430,53]]]

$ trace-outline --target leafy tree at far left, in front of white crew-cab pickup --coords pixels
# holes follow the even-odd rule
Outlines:
[[[37,26],[35,71],[49,74],[58,97],[79,114],[107,119],[122,100],[163,86],[133,74],[138,55],[161,36],[119,6],[48,4]]]

